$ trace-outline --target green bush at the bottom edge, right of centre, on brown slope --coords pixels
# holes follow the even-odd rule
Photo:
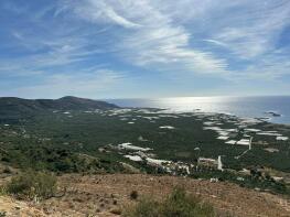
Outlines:
[[[174,188],[162,202],[142,198],[138,204],[128,207],[123,217],[213,217],[214,208],[200,198],[186,194],[184,188]]]

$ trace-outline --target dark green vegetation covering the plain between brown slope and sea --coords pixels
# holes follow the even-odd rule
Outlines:
[[[0,123],[0,162],[4,166],[57,174],[140,172],[186,175],[289,195],[290,142],[238,128],[240,120],[237,117],[198,112],[173,115],[158,109],[88,109],[47,110],[19,121]],[[131,121],[135,124],[128,124]],[[251,150],[247,145],[217,140],[216,131],[204,129],[213,121],[224,129],[224,133],[236,130],[229,133],[230,140],[239,141],[246,134],[253,137]],[[174,129],[160,128],[162,126],[173,126]],[[290,138],[290,128],[286,126],[259,122],[249,128],[277,131]],[[152,150],[146,153],[119,150],[118,144],[126,142]],[[265,151],[273,148],[278,151]],[[125,155],[138,155],[142,161]],[[200,158],[217,160],[219,155],[223,172],[216,165],[198,163]],[[148,158],[171,161],[176,166],[165,170],[148,164]],[[266,167],[279,173],[266,175]],[[258,173],[249,173],[253,170]]]

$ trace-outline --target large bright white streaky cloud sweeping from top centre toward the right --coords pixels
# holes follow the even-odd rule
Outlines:
[[[73,3],[71,7],[85,20],[106,23],[109,17],[109,21],[115,24],[126,29],[135,28],[126,32],[115,45],[119,56],[128,63],[154,66],[157,70],[172,68],[201,74],[227,73],[225,59],[215,57],[211,52],[191,47],[191,33],[175,23],[170,13],[162,12],[158,4],[152,2],[86,0],[82,6]],[[114,11],[114,15],[108,13],[108,9]]]

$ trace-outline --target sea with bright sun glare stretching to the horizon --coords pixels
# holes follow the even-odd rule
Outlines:
[[[109,99],[120,107],[161,108],[171,111],[218,112],[241,118],[268,118],[269,122],[290,124],[290,96],[262,97],[170,97]],[[272,116],[275,112],[279,116]]]

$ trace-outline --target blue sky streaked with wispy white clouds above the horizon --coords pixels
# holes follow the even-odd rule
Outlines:
[[[0,97],[289,94],[289,0],[0,1]]]

